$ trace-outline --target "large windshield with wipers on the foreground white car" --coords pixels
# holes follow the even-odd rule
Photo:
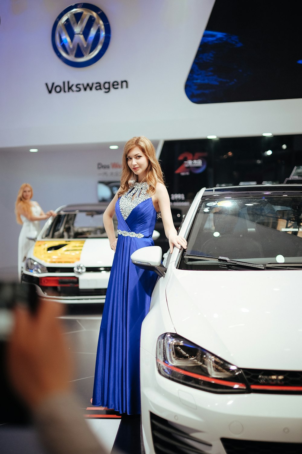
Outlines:
[[[179,268],[225,269],[221,260],[205,257],[228,257],[272,269],[302,263],[301,195],[218,197],[201,199]]]

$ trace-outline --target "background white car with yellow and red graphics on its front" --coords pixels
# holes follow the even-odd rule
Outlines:
[[[50,300],[104,303],[114,257],[103,224],[107,205],[58,208],[34,238],[21,281],[35,284],[38,294]]]

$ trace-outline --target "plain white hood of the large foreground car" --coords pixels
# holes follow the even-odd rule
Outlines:
[[[301,273],[174,269],[175,331],[238,367],[302,370]]]

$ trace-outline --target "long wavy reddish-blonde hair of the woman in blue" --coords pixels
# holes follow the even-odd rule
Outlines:
[[[129,168],[127,162],[127,155],[134,147],[139,147],[141,152],[146,156],[148,159],[148,167],[146,171],[146,176],[144,181],[148,183],[149,194],[153,195],[155,192],[156,184],[163,183],[163,172],[159,165],[158,159],[156,158],[155,148],[153,147],[153,143],[144,136],[133,137],[126,142],[122,157],[122,174],[120,177],[120,192],[118,196],[125,194],[125,192],[129,189],[129,180],[136,180],[136,175],[132,172]]]

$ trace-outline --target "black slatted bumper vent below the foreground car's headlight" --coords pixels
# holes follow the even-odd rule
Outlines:
[[[211,444],[192,437],[183,426],[150,413],[151,431],[156,454],[206,454]],[[188,432],[190,429],[187,429]],[[204,449],[207,449],[206,451]]]

